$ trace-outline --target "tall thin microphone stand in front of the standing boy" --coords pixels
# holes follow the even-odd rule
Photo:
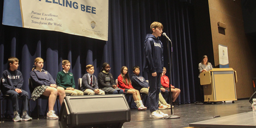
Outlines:
[[[169,81],[170,81],[170,77],[171,77],[171,58],[172,58],[172,43],[171,43],[171,53],[170,53],[170,46],[169,46],[169,41],[171,42],[171,40],[166,39],[166,43],[167,43],[167,49],[168,49],[168,67],[169,67]],[[170,57],[171,55],[171,57]],[[169,102],[171,104],[171,115],[169,115],[167,117],[167,119],[175,119],[175,118],[181,118],[180,116],[174,115],[173,112],[173,103],[172,103],[172,97],[171,97],[171,84],[169,82]]]

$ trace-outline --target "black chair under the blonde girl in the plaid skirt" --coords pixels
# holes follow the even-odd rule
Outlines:
[[[34,88],[33,88],[33,83],[31,81],[31,79],[29,78],[28,79],[28,83],[29,83],[29,90],[32,94],[32,92],[34,91]],[[32,98],[31,98],[32,99]],[[39,98],[36,99],[36,106],[37,106],[37,109],[38,109],[38,120],[39,120],[39,105],[38,105],[38,99],[45,99],[47,100],[47,105],[45,107],[45,114],[44,114],[44,117],[46,117],[46,113],[47,113],[47,107],[49,105],[49,96],[44,96],[44,95],[41,95]],[[57,111],[59,113],[59,108],[58,108],[58,96],[57,96],[57,99],[56,99],[56,104],[57,104]]]

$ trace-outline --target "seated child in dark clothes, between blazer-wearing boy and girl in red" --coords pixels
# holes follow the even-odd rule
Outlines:
[[[115,84],[113,75],[109,73],[110,69],[108,63],[102,64],[102,70],[98,75],[99,87],[108,94],[124,94],[124,91]]]

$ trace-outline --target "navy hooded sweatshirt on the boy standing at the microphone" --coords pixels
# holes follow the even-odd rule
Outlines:
[[[152,34],[147,34],[144,42],[144,50],[143,71],[162,73],[164,67],[164,47],[159,38],[156,38]]]

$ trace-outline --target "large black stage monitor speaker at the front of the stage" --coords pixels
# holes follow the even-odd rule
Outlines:
[[[130,120],[123,94],[66,96],[59,115],[60,128],[122,128]]]

